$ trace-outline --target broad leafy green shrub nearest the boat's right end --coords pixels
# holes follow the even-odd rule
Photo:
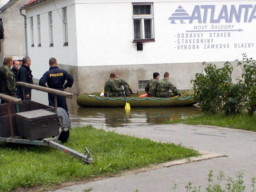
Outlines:
[[[194,84],[194,99],[203,112],[219,113],[228,102],[233,67],[229,62],[226,62],[223,68],[205,62],[203,65],[206,65],[205,75],[196,73],[196,79],[191,80]]]

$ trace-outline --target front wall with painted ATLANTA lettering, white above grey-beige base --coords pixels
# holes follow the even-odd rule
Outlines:
[[[148,1],[116,0],[109,3],[106,0],[98,0],[85,3],[83,0],[76,0],[80,93],[101,91],[109,74],[117,70],[121,71],[122,77],[129,82],[134,90],[138,89],[139,80],[151,79],[153,72],[159,72],[163,78],[165,71],[171,74],[171,81],[178,88],[188,89],[192,87],[190,81],[195,78],[195,74],[202,73],[203,61],[222,67],[225,61],[232,62],[242,59],[242,54],[245,52],[250,57],[255,58],[256,56],[256,38],[252,36],[256,33],[254,27],[256,19],[253,19],[252,22],[244,22],[244,10],[241,13],[240,23],[236,22],[235,18],[228,23],[226,20],[211,23],[210,10],[208,10],[206,23],[198,23],[197,20],[194,20],[189,24],[188,20],[184,20],[186,24],[181,24],[180,20],[175,20],[176,24],[171,24],[171,20],[168,20],[180,5],[189,15],[192,14],[195,5],[215,5],[214,19],[217,20],[223,5],[227,5],[227,9],[230,9],[231,5],[235,5],[238,11],[240,4],[255,5],[256,1],[177,2],[155,0],[153,3],[155,42],[143,43],[143,51],[137,51],[136,43],[133,43],[132,2]],[[249,9],[247,20],[253,10],[252,6]],[[204,10],[202,9],[201,14],[203,20]],[[230,14],[229,10],[228,14]],[[228,30],[243,29],[244,31],[186,32],[198,30],[198,26],[204,26],[204,30],[221,30],[221,26],[225,25],[232,26]],[[212,26],[213,28],[211,28]],[[202,37],[197,37],[202,33]],[[218,37],[210,37],[210,33],[211,36]],[[178,36],[186,36],[186,34],[195,34],[196,37],[178,38]],[[193,46],[193,43],[178,44],[178,40],[181,42],[182,39],[184,41],[210,39],[210,46],[213,44],[214,48],[204,49],[204,44],[208,45],[209,43],[203,43],[199,44],[199,49],[181,49],[181,45],[183,47],[184,45]],[[249,48],[238,47],[245,43],[247,45],[249,43],[251,46]],[[220,49],[220,44],[226,48]],[[241,69],[236,67],[236,62],[232,62],[232,64],[233,76],[240,76]]]

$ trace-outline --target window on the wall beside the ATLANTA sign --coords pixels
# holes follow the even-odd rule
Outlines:
[[[133,40],[154,40],[153,4],[132,4]]]

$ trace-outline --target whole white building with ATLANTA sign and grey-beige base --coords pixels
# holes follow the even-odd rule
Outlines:
[[[117,70],[134,90],[165,71],[191,88],[203,61],[231,61],[239,76],[234,60],[256,56],[256,1],[32,0],[22,9],[34,77],[56,57],[77,93],[101,91]]]

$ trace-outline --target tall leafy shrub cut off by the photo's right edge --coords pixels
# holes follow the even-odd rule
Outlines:
[[[256,61],[247,58],[243,54],[243,62],[238,61],[238,66],[242,67],[243,89],[245,94],[245,108],[250,116],[256,111]]]

